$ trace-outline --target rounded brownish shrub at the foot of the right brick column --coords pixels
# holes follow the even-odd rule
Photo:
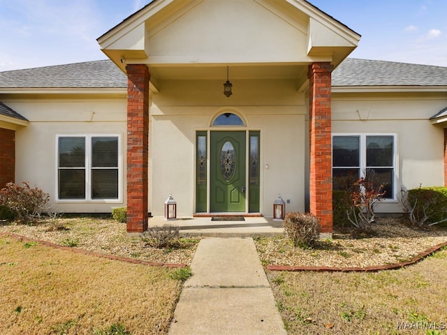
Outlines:
[[[284,232],[294,246],[309,248],[320,237],[320,220],[309,213],[287,213],[284,218]]]

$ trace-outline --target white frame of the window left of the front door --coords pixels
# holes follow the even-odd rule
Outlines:
[[[59,138],[60,137],[84,137],[85,138],[85,199],[60,199],[59,198]],[[92,199],[91,198],[91,138],[92,137],[117,137],[118,139],[118,198],[116,199]],[[123,184],[123,157],[122,157],[122,134],[57,134],[56,135],[56,182],[54,198],[56,202],[100,202],[100,203],[119,203],[122,202],[122,184]]]

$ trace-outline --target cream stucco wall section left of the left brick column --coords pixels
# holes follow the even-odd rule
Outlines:
[[[55,202],[57,191],[57,135],[121,135],[125,157],[126,98],[11,98],[4,101],[29,119],[16,131],[16,182],[29,181],[50,193],[52,211],[110,212],[126,200],[125,178],[121,202]],[[108,121],[105,121],[108,120]],[[126,160],[122,174],[125,176]]]

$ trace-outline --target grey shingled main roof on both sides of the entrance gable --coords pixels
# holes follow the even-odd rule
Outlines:
[[[332,86],[447,86],[447,67],[348,58]],[[126,75],[108,59],[0,72],[0,89],[125,87]]]

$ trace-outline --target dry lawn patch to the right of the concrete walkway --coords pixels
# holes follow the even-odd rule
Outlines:
[[[411,267],[363,272],[268,272],[288,334],[447,334],[447,249]],[[416,323],[413,323],[416,322]],[[419,329],[397,325],[420,323]]]

